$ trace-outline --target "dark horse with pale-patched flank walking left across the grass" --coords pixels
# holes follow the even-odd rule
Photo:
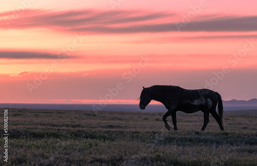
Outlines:
[[[221,95],[210,89],[195,89],[188,90],[179,86],[169,85],[154,85],[144,88],[140,95],[140,109],[145,109],[145,106],[151,100],[161,102],[168,112],[163,115],[162,120],[168,130],[172,128],[167,123],[166,118],[171,115],[174,125],[174,131],[177,130],[176,112],[195,113],[201,110],[204,112],[204,125],[201,131],[204,131],[209,123],[209,114],[217,121],[219,128],[224,130],[223,120],[223,104]],[[218,104],[218,114],[216,113],[216,105]]]

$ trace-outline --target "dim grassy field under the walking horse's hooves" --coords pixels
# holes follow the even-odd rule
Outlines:
[[[174,132],[163,113],[8,108],[8,165],[257,165],[256,113],[225,112],[224,132],[211,115],[199,132],[203,114],[177,113]]]

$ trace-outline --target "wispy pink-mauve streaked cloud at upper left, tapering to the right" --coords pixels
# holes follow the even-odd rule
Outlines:
[[[117,24],[136,23],[151,21],[172,15],[166,12],[144,12],[144,11],[47,11],[28,9],[17,20],[5,25],[5,21],[11,17],[11,12],[0,13],[2,23],[0,28],[53,28],[69,31],[78,31],[82,27],[87,28],[85,31],[92,31],[91,28],[113,26]],[[107,27],[106,27],[107,28]],[[104,32],[104,31],[103,31]]]

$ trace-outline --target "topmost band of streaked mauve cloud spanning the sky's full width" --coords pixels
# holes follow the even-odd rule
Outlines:
[[[0,28],[11,12],[0,13]],[[180,20],[179,20],[180,19]],[[181,15],[169,12],[124,11],[48,11],[28,9],[9,28],[50,28],[64,31],[96,33],[140,33],[177,31]],[[257,16],[206,15],[191,20],[181,31],[256,31]]]

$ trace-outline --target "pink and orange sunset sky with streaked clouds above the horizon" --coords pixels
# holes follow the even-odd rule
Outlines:
[[[256,6],[0,1],[0,103],[136,103],[157,84],[257,98]]]

